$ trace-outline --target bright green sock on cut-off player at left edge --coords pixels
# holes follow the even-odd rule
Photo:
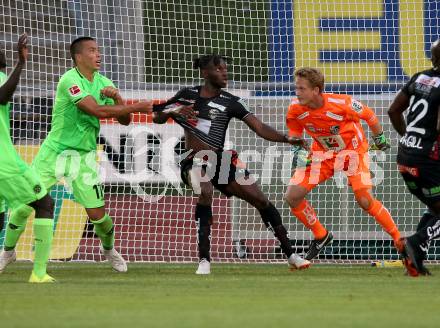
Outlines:
[[[42,278],[46,274],[47,262],[49,261],[50,250],[53,240],[53,220],[35,219],[34,220],[34,273]]]

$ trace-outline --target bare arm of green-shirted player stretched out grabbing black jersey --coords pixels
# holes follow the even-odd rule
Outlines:
[[[78,104],[83,112],[97,118],[120,118],[131,113],[151,113],[153,105],[151,101],[141,101],[131,105],[98,105],[92,96],[83,98]]]

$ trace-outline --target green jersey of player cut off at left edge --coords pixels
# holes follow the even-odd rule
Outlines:
[[[6,80],[6,74],[0,72],[0,86]],[[0,180],[14,174],[21,174],[27,168],[12,144],[9,124],[10,107],[9,103],[0,105]]]

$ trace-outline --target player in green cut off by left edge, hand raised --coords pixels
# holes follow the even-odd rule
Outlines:
[[[27,204],[28,208],[35,210],[33,224],[35,257],[29,282],[46,283],[55,281],[46,273],[53,239],[54,202],[34,170],[29,168],[18,156],[9,132],[9,101],[19,82],[27,56],[27,35],[23,34],[18,40],[18,62],[14,71],[6,81],[4,73],[0,74],[0,202],[2,203],[0,215],[3,221],[4,200],[11,208]],[[4,54],[0,55],[2,69],[6,66],[4,59]],[[0,257],[0,273],[3,272],[6,265],[15,261],[15,252],[11,251],[15,244],[11,244],[11,236],[21,234],[24,225],[19,226],[9,220],[6,229],[10,233],[5,237],[5,251]]]

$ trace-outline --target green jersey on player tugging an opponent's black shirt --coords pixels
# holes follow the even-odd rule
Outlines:
[[[113,99],[101,95],[101,90],[108,86],[114,87],[113,82],[98,72],[93,75],[93,82],[76,68],[64,73],[57,86],[52,128],[43,145],[57,153],[67,149],[84,152],[96,150],[99,119],[83,112],[77,104],[85,97],[92,96],[99,105],[113,105]]]

